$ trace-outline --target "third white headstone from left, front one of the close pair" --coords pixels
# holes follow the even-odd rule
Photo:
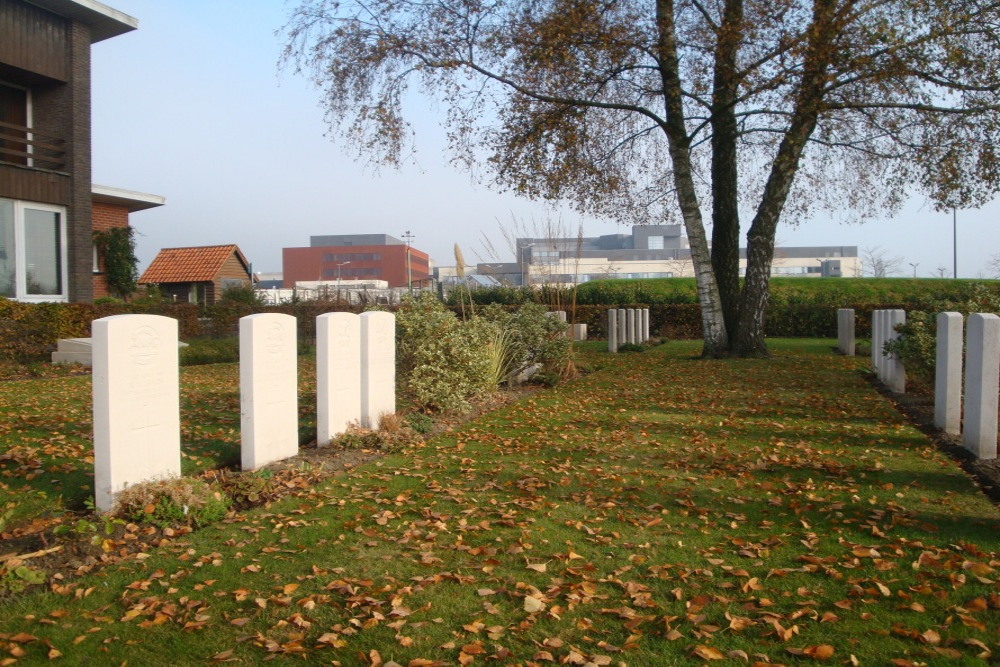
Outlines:
[[[361,423],[361,318],[325,313],[316,318],[316,444]]]

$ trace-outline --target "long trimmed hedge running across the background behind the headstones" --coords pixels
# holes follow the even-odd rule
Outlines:
[[[772,280],[770,306],[766,316],[766,335],[775,337],[823,337],[837,334],[837,308],[854,308],[857,336],[871,335],[871,311],[877,308],[927,310],[927,304],[941,300],[960,301],[974,292],[1000,296],[1000,281],[941,279],[807,279]],[[569,304],[569,291],[518,290],[494,288],[474,290],[477,302],[490,302],[490,296],[514,308],[527,296],[541,303]],[[694,291],[694,280],[670,278],[659,280],[592,281],[579,287],[575,317],[587,324],[593,338],[606,335],[608,305],[623,308],[649,308],[650,333],[669,339],[701,337],[701,313]],[[451,309],[460,312],[457,305]],[[468,309],[468,305],[466,305]],[[570,306],[563,306],[571,311]],[[361,307],[347,307],[322,301],[305,301],[281,306],[255,306],[243,303],[220,303],[213,306],[192,304],[138,303],[24,304],[0,298],[0,359],[27,361],[44,359],[55,349],[60,338],[90,335],[90,323],[100,317],[123,313],[165,315],[178,321],[182,340],[203,336],[225,337],[237,333],[239,319],[253,313],[285,313],[298,322],[299,339],[311,343],[316,336],[316,317],[331,310],[361,312]],[[552,308],[555,310],[555,308]]]

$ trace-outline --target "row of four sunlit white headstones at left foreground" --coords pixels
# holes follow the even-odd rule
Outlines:
[[[241,463],[256,470],[298,453],[297,322],[262,313],[240,319]],[[316,321],[320,446],[352,423],[375,428],[396,411],[395,316],[326,313]],[[180,474],[177,320],[115,315],[93,337],[95,506],[124,488]]]

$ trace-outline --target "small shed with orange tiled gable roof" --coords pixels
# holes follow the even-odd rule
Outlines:
[[[231,287],[253,285],[250,262],[236,244],[164,248],[139,278],[156,285],[167,298],[215,303]]]

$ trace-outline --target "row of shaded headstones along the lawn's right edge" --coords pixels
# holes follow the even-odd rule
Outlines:
[[[963,320],[961,313],[937,315],[934,425],[945,433],[961,435],[962,446],[976,457],[995,459],[1000,399],[1000,317],[994,313],[969,315],[964,336]],[[902,310],[872,311],[872,367],[882,382],[900,393],[906,389],[906,371],[899,359],[885,351],[885,344],[899,336],[896,325],[905,322],[906,313]],[[853,309],[837,311],[837,349],[842,354],[854,353]]]

